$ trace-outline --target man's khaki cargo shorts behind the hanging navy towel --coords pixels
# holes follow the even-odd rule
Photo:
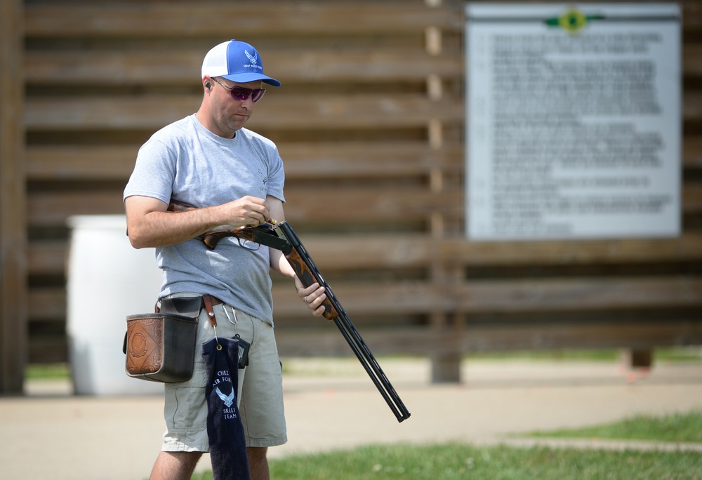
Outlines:
[[[173,296],[192,296],[178,294]],[[239,334],[251,343],[249,366],[239,369],[239,411],[244,423],[246,446],[270,447],[287,441],[283,409],[283,375],[273,327],[266,321],[239,312],[230,305],[215,305],[217,335],[233,338]],[[214,338],[204,309],[197,326],[195,365],[187,382],[166,383],[166,433],[162,451],[207,452],[208,381],[200,345]]]

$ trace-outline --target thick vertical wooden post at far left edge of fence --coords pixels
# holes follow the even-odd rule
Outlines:
[[[0,7],[0,394],[18,394],[28,335],[24,15],[21,0]]]

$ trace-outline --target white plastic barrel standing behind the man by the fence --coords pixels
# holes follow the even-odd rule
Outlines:
[[[126,316],[150,313],[161,288],[154,248],[136,250],[125,215],[76,215],[67,262],[67,336],[76,394],[159,394],[124,372]]]

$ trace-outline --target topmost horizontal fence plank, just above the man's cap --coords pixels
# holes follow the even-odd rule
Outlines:
[[[421,0],[355,3],[268,1],[28,4],[27,36],[201,37],[423,34],[430,25],[461,31],[461,11]],[[228,37],[227,37],[228,38]]]

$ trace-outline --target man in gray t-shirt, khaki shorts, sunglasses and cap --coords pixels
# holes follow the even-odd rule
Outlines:
[[[258,226],[285,218],[277,148],[244,128],[265,93],[263,84],[280,82],[263,73],[256,48],[234,40],[207,53],[201,82],[197,113],[154,133],[139,150],[124,190],[128,234],[135,248],[156,247],[164,273],[161,298],[208,293],[222,301],[214,307],[217,335],[239,335],[251,343],[249,366],[239,371],[238,400],[251,478],[267,479],[267,448],[286,442],[270,269],[294,279],[315,316],[324,312],[326,297],[318,284],[304,288],[280,251],[234,238],[208,250],[195,238],[223,225]],[[170,201],[196,208],[168,212]],[[201,312],[196,345],[213,337]],[[167,430],[152,479],[190,479],[208,451],[205,376],[197,356],[190,380],[166,384]]]

